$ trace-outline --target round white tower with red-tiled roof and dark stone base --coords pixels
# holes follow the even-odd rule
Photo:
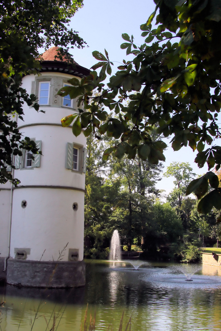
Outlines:
[[[23,77],[28,94],[38,96],[37,113],[24,105],[18,128],[42,155],[23,151],[15,157],[10,259],[7,283],[76,287],[85,284],[83,260],[86,138],[63,128],[61,118],[77,111],[76,100],[57,95],[73,76],[89,70],[55,61],[57,48],[43,53],[41,75]]]

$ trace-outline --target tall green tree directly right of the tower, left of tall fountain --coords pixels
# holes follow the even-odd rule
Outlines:
[[[86,257],[107,258],[113,230],[118,223],[111,222],[113,206],[117,203],[120,182],[105,176],[109,163],[102,160],[108,141],[87,137],[87,171],[85,177],[85,238]]]

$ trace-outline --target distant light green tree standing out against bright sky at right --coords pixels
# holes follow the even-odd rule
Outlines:
[[[172,207],[179,206],[181,208],[183,197],[186,193],[187,185],[191,179],[194,179],[196,173],[189,162],[173,162],[167,167],[164,173],[165,177],[174,177],[173,184],[176,186],[168,197],[168,201],[172,203]]]

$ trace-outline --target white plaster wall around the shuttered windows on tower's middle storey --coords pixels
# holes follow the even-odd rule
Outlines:
[[[41,140],[40,167],[15,169],[21,185],[62,185],[85,189],[85,174],[66,169],[67,143],[86,147],[81,133],[77,138],[71,127],[36,125],[23,128],[24,136]]]

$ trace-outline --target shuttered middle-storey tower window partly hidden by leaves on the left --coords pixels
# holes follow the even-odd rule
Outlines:
[[[35,140],[36,148],[41,150],[41,140]],[[22,150],[22,156],[15,156],[15,168],[16,169],[27,169],[40,166],[40,157],[41,154],[33,154],[31,151]]]

